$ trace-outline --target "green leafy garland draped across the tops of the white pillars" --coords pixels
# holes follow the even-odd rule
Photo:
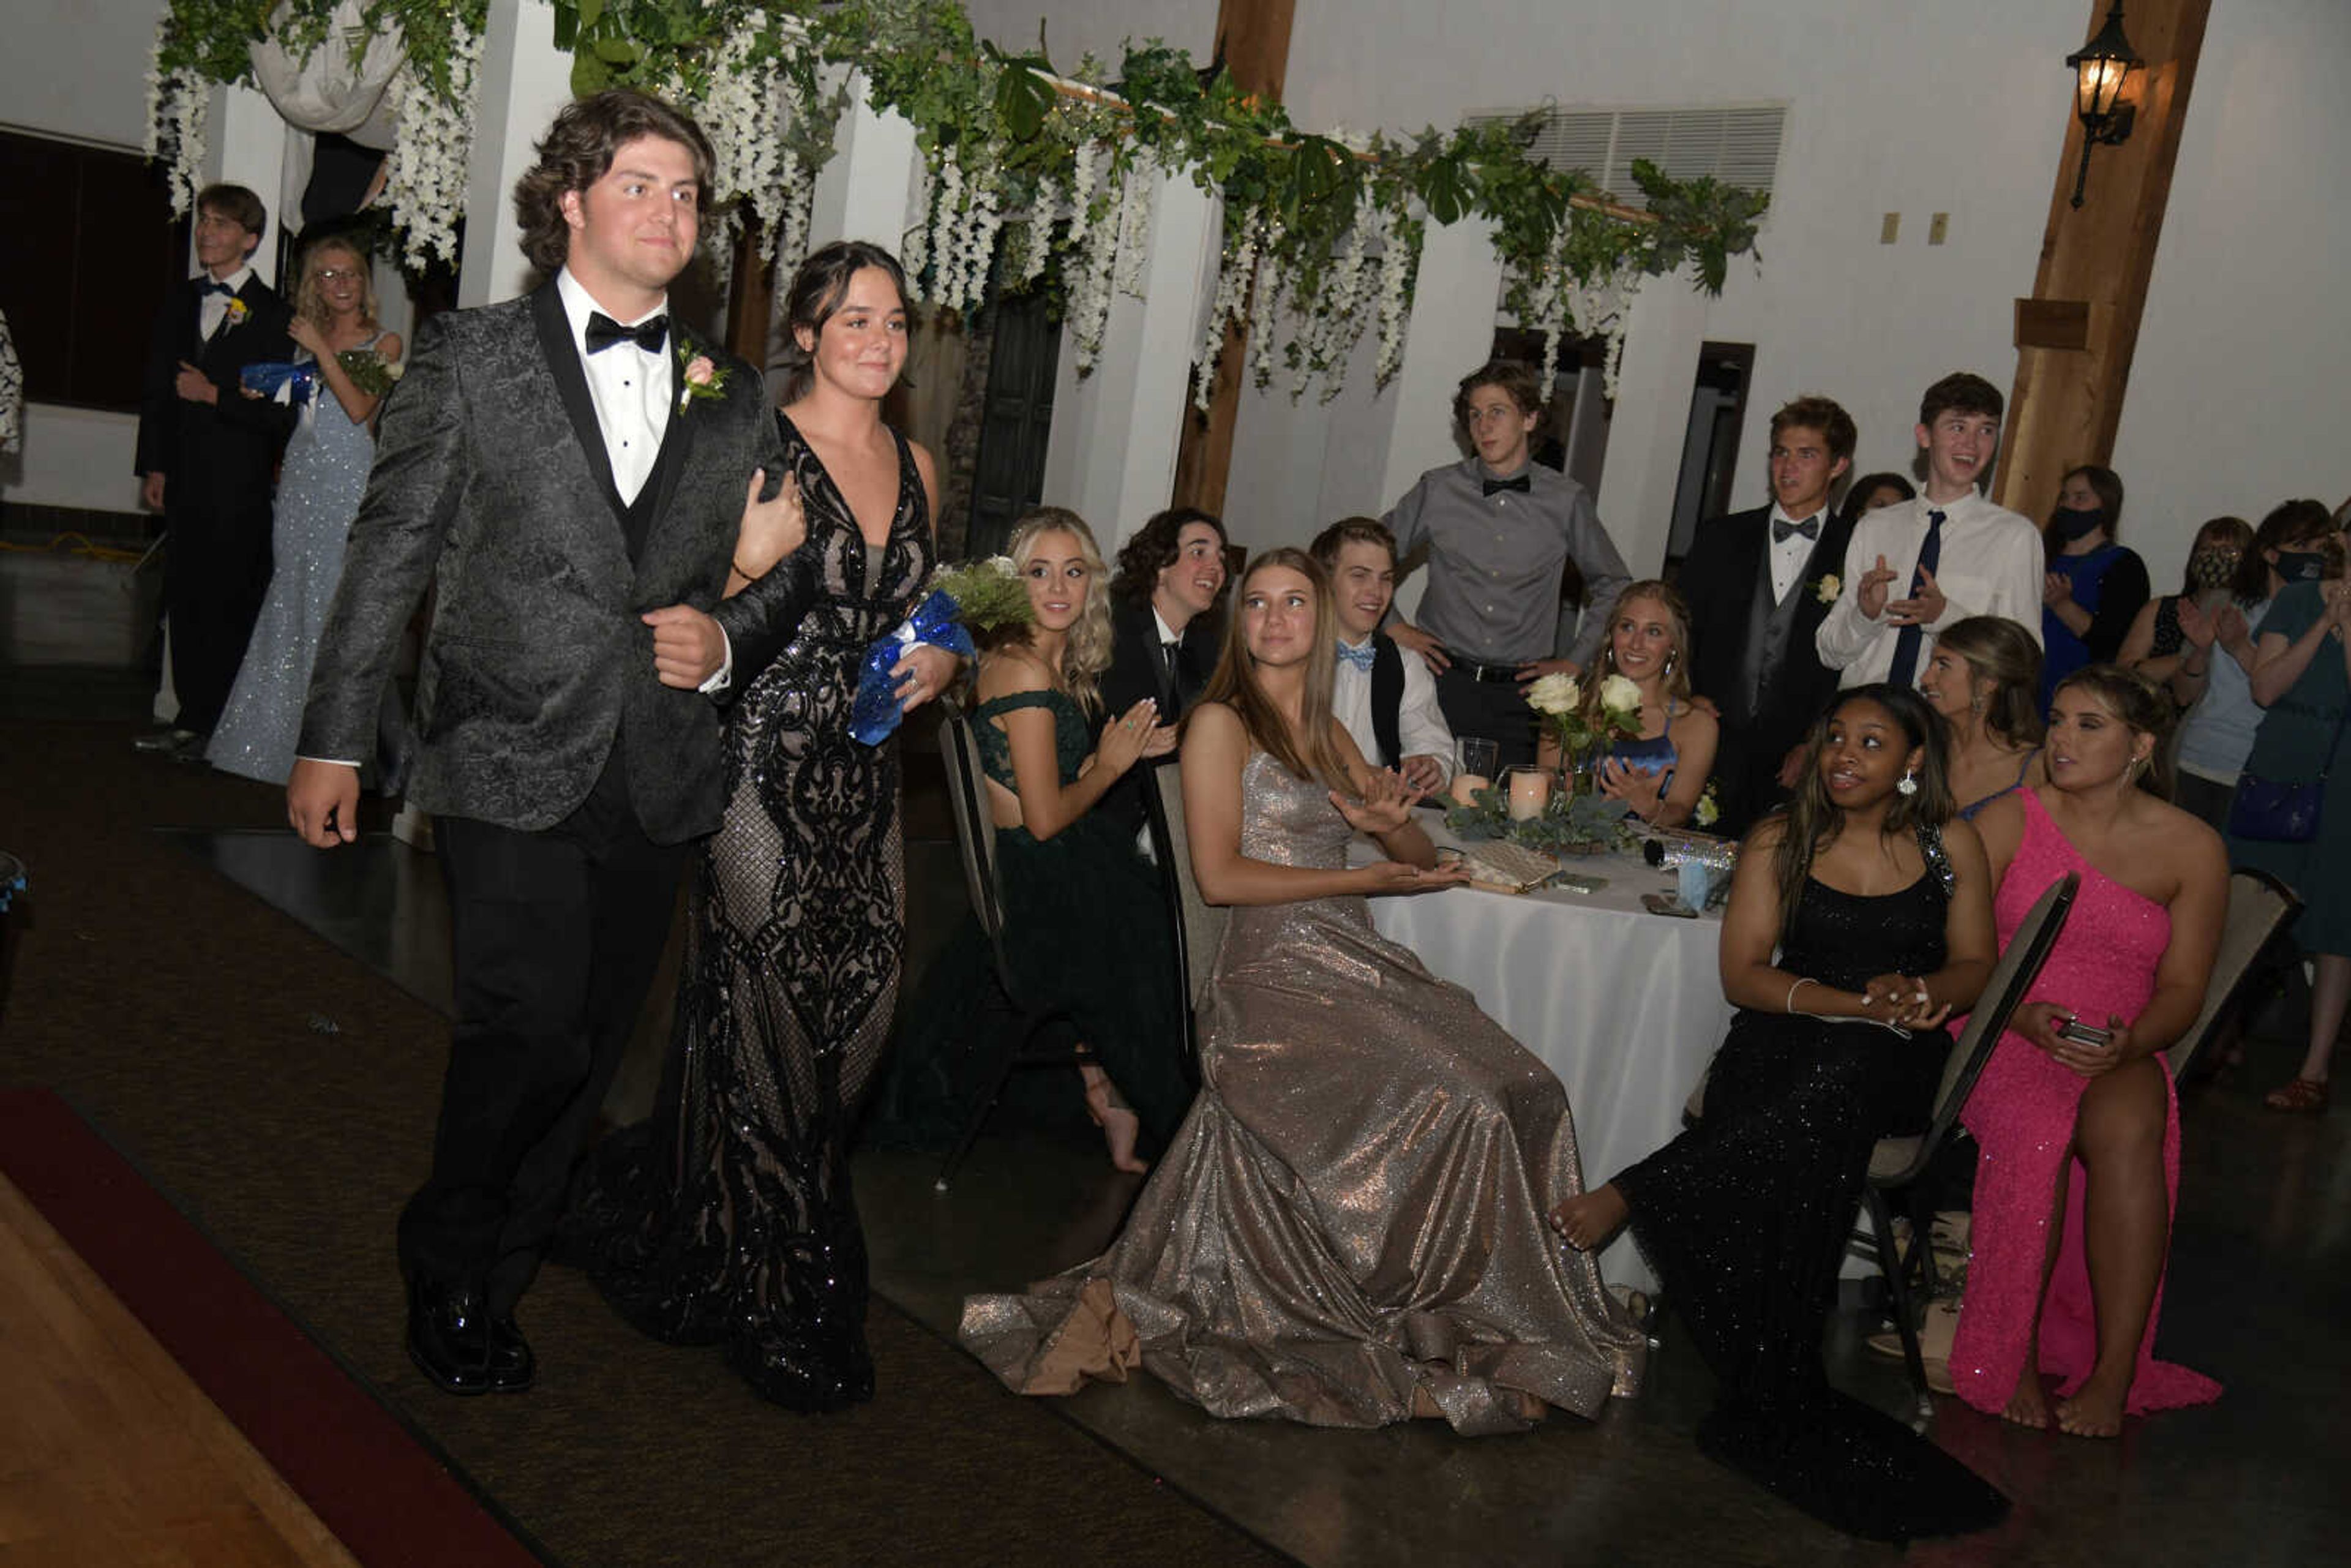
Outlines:
[[[292,49],[327,35],[334,0],[172,0],[158,63],[216,82],[245,80],[245,49],[268,31],[280,2],[287,14],[277,35]],[[454,9],[480,28],[484,0],[458,0]],[[369,0],[362,16],[374,28],[400,26],[411,56],[447,85],[449,5]],[[781,73],[778,89],[792,101],[781,136],[804,176],[830,158],[842,108],[837,92],[828,99],[820,89],[820,71],[853,66],[877,108],[915,125],[933,181],[952,165],[957,181],[987,188],[1009,230],[1041,226],[1030,242],[1053,263],[1049,282],[1065,282],[1063,275],[1079,266],[1081,235],[1103,244],[1096,230],[1117,219],[1119,181],[1138,160],[1190,172],[1223,200],[1227,263],[1262,244],[1270,270],[1255,273],[1248,294],[1265,294],[1265,280],[1277,277],[1293,322],[1317,310],[1347,310],[1354,301],[1357,315],[1345,331],[1298,334],[1288,346],[1293,369],[1326,376],[1364,329],[1366,216],[1378,219],[1380,249],[1401,244],[1411,254],[1418,254],[1427,219],[1491,223],[1505,263],[1505,303],[1531,327],[1556,331],[1568,324],[1568,284],[1625,289],[1629,280],[1695,263],[1697,287],[1721,292],[1730,259],[1754,249],[1768,200],[1712,179],[1672,181],[1650,165],[1634,165],[1646,212],[1629,212],[1589,176],[1533,162],[1523,150],[1523,122],[1427,127],[1418,136],[1375,134],[1349,146],[1302,132],[1279,103],[1241,92],[1223,68],[1201,73],[1183,49],[1154,40],[1126,47],[1114,71],[1089,56],[1063,73],[1041,38],[1023,54],[976,38],[957,0],[557,0],[555,31],[557,45],[574,56],[576,92],[637,85],[675,92],[689,106],[724,87],[717,61],[729,40],[738,49],[729,71],[745,68],[741,40],[748,35],[750,66]],[[1096,186],[1089,212],[1056,214],[1049,207],[1067,197],[1086,146],[1110,148],[1110,179]],[[917,216],[917,226],[924,221]],[[994,230],[983,233],[994,244]],[[1333,282],[1349,270],[1349,259],[1354,282]],[[950,266],[936,254],[917,261],[924,284]],[[964,259],[980,273],[985,261]],[[1255,310],[1270,313],[1272,303],[1255,299]],[[1394,306],[1389,299],[1382,310]],[[1232,315],[1244,310],[1237,301]]]

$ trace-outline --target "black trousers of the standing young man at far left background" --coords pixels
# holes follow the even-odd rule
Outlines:
[[[174,503],[165,548],[162,602],[172,618],[172,691],[179,729],[209,733],[237,684],[245,644],[270,588],[268,484],[252,498]],[[195,482],[195,475],[188,480]]]

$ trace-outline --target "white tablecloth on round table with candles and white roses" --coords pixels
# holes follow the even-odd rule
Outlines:
[[[1434,827],[1434,823],[1432,823]],[[1444,832],[1436,830],[1439,842]],[[1721,914],[1650,914],[1669,875],[1639,856],[1568,860],[1599,893],[1446,889],[1373,898],[1382,936],[1467,987],[1568,1086],[1585,1182],[1599,1185],[1681,1131],[1681,1107],[1730,1027],[1716,969]],[[1610,1284],[1655,1288],[1629,1234],[1601,1253]]]

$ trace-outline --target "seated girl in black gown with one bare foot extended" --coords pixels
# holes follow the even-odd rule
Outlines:
[[[1940,1025],[1991,959],[1984,846],[1951,818],[1933,710],[1907,689],[1846,693],[1796,802],[1740,856],[1721,954],[1740,1013],[1704,1117],[1552,1215],[1575,1246],[1632,1220],[1719,1380],[1697,1446],[1874,1540],[2008,1512],[1965,1465],[1831,1389],[1820,1347],[1869,1152],[1925,1126],[1951,1044]]]

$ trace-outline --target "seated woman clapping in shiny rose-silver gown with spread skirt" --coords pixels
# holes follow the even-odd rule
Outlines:
[[[1401,783],[1331,719],[1333,621],[1298,550],[1251,564],[1183,745],[1201,891],[1237,905],[1204,1088],[1107,1253],[973,1295],[962,1338],[1013,1389],[1140,1363],[1213,1415],[1512,1432],[1641,1382],[1641,1331],[1545,1211],[1582,1192],[1559,1079],[1371,926],[1446,886]],[[1347,783],[1347,792],[1326,778]],[[1354,830],[1385,853],[1347,867]]]

